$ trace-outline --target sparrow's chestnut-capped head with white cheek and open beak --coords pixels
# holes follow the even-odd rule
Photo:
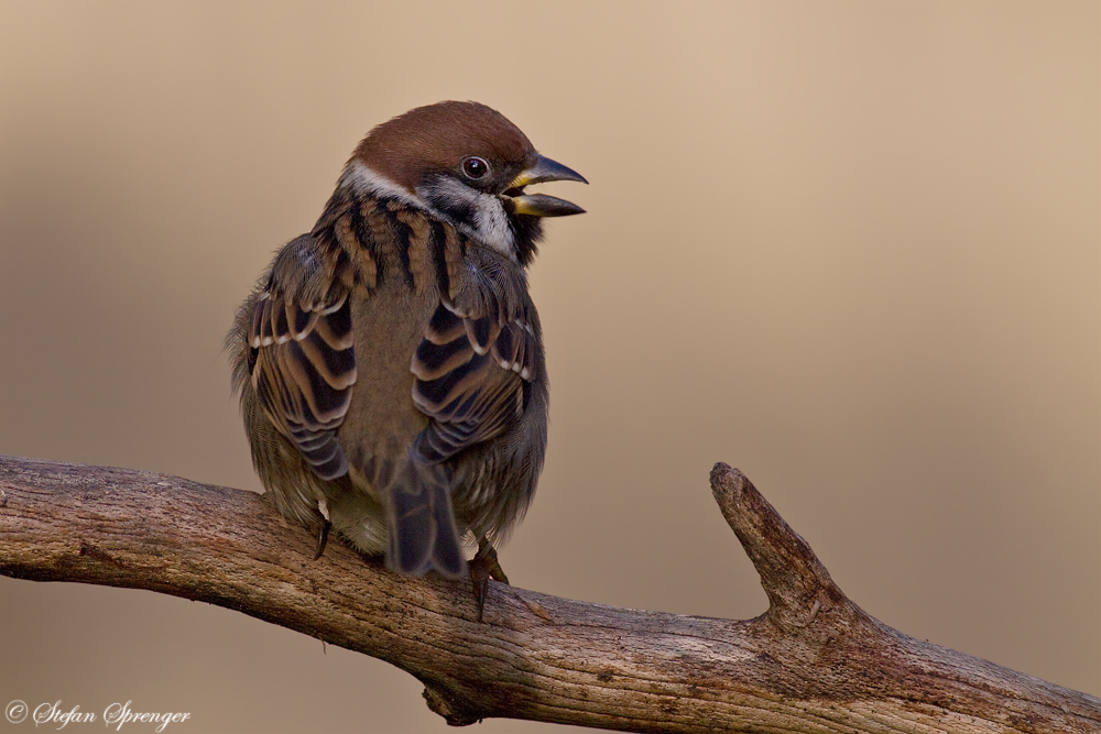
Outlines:
[[[391,196],[451,222],[468,237],[527,265],[543,217],[585,211],[524,187],[585,178],[535,152],[500,112],[478,102],[418,107],[368,133],[341,184]]]

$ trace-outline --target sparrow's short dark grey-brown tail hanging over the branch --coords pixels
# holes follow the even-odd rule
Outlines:
[[[458,578],[467,562],[451,510],[450,472],[410,457],[386,487],[386,568]]]

